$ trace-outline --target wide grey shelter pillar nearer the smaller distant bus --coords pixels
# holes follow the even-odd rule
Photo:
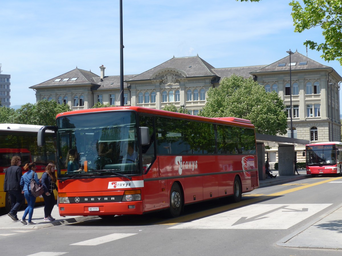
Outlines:
[[[278,171],[280,176],[294,175],[294,146],[278,146]]]

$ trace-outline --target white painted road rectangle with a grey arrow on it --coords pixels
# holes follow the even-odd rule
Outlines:
[[[288,229],[332,204],[254,204],[172,229]]]

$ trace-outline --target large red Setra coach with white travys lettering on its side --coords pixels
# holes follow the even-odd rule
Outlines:
[[[143,214],[259,187],[254,125],[141,107],[60,113],[57,177],[61,216]]]

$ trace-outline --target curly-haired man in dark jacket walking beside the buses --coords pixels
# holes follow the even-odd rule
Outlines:
[[[10,195],[12,210],[7,214],[13,219],[18,221],[17,212],[24,202],[24,194],[20,187],[21,176],[23,176],[21,165],[21,159],[19,156],[13,156],[11,159],[11,166],[7,168],[5,172],[5,180],[3,183],[3,191]]]

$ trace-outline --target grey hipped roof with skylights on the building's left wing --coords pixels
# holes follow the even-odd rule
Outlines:
[[[71,79],[76,78],[76,80],[71,81]],[[71,70],[65,74],[59,75],[54,77],[53,79],[50,79],[48,81],[45,81],[43,83],[31,86],[29,88],[35,89],[37,87],[46,87],[46,86],[66,86],[66,85],[97,85],[95,80],[99,77],[98,75],[92,73],[91,71],[86,71],[83,69],[74,69]],[[63,81],[63,79],[67,79],[67,81]],[[58,82],[55,82],[56,79],[61,79]]]

